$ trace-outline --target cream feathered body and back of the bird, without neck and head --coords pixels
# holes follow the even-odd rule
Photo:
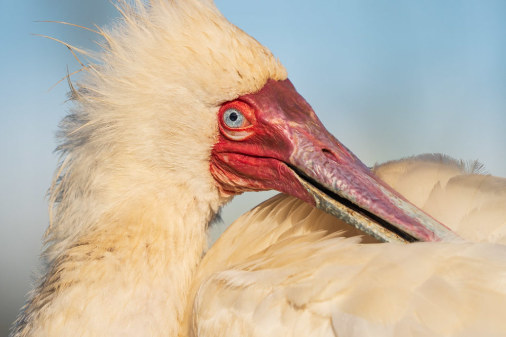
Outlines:
[[[506,179],[470,167],[446,156],[424,155],[373,170],[418,206],[437,203],[439,217],[450,218],[458,209],[461,221],[451,225],[468,240],[495,242],[506,221]],[[461,200],[465,203],[456,207]],[[493,205],[502,207],[489,216]],[[278,195],[259,205],[235,221],[199,265],[188,332],[506,334],[506,246],[371,244],[374,239],[357,234],[292,197]]]

